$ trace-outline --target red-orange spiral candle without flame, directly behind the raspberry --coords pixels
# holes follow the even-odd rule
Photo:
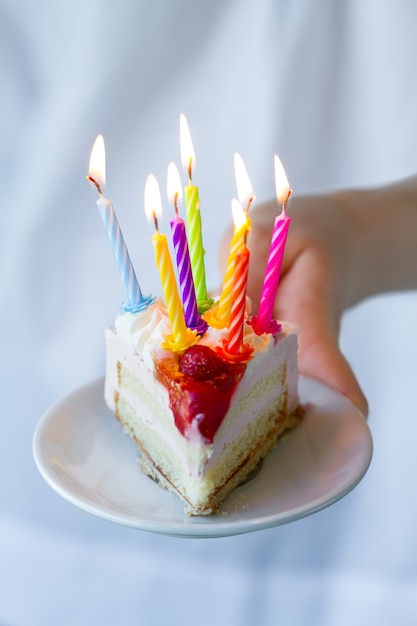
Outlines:
[[[227,340],[223,340],[222,346],[217,349],[217,352],[223,358],[233,362],[248,361],[253,352],[253,348],[243,342],[249,258],[250,253],[244,243],[243,248],[237,253],[235,259],[228,337]]]

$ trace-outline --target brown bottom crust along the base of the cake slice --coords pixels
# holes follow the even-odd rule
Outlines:
[[[214,515],[218,512],[219,507],[227,498],[227,496],[237,487],[242,485],[249,475],[256,470],[259,463],[276,445],[278,439],[289,429],[295,427],[301,420],[303,410],[298,407],[292,415],[281,414],[275,417],[273,427],[266,434],[265,438],[252,448],[251,453],[246,459],[234,469],[233,473],[226,481],[219,484],[210,495],[207,496],[204,504],[198,506],[193,505],[186,494],[181,492],[168,476],[164,474],[160,467],[157,467],[153,460],[148,456],[146,450],[142,447],[140,441],[134,437],[134,440],[141,451],[140,466],[142,471],[150,478],[159,483],[161,487],[179,496],[185,503],[185,513],[190,516],[194,515]]]

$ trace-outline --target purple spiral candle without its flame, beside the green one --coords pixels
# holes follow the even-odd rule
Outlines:
[[[185,223],[179,215],[175,215],[170,221],[170,226],[177,261],[178,280],[184,307],[185,323],[188,328],[196,329],[200,335],[207,329],[207,324],[198,313]]]

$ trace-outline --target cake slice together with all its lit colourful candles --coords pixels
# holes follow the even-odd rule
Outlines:
[[[187,139],[183,116],[181,127]],[[258,316],[250,314],[246,299],[251,191],[239,194],[247,196],[245,211],[242,202],[232,206],[235,229],[223,290],[213,303],[205,284],[200,201],[192,183],[193,149],[189,137],[183,142],[182,134],[181,139],[189,176],[187,228],[178,212],[179,173],[175,166],[168,168],[177,275],[167,237],[159,230],[162,206],[153,175],[145,187],[145,211],[155,226],[152,246],[165,305],[142,295],[113,207],[103,196],[101,136],[93,146],[88,178],[99,193],[99,213],[128,298],[114,328],[106,331],[105,398],[137,443],[143,471],[179,495],[188,514],[211,515],[278,437],[300,420],[297,332],[273,319],[289,226],[285,204],[291,191],[276,157],[277,198],[283,205],[272,233]],[[236,169],[242,170],[242,165]]]

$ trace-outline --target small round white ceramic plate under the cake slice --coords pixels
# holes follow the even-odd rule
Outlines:
[[[72,504],[134,528],[182,537],[221,537],[291,522],[336,502],[364,476],[372,438],[344,397],[301,377],[303,421],[260,471],[212,517],[184,515],[181,501],[142,474],[138,450],[103,400],[103,380],[50,408],[33,439],[46,482]]]

